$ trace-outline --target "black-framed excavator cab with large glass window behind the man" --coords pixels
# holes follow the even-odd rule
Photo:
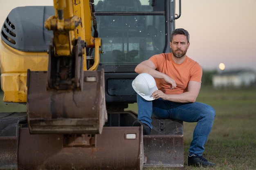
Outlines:
[[[175,1],[95,0],[100,64],[104,69],[107,105],[127,107],[136,102],[130,86],[135,66],[152,55],[170,52],[170,33],[175,28]],[[121,105],[122,104],[122,105]]]

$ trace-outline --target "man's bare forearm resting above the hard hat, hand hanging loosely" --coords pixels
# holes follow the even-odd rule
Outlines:
[[[167,84],[170,84],[171,89],[174,89],[176,87],[176,83],[175,83],[174,79],[172,79],[171,77],[169,77],[168,75],[166,75],[164,73],[161,73],[161,72],[155,70],[155,64],[150,60],[145,60],[145,61],[139,63],[135,67],[135,72],[138,74],[148,73],[148,74],[152,75],[154,78],[164,79],[164,81]]]

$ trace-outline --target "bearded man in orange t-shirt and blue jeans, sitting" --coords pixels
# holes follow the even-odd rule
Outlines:
[[[155,78],[159,90],[153,92],[153,101],[137,95],[138,120],[133,126],[143,125],[144,135],[150,135],[151,115],[159,119],[198,122],[189,148],[188,165],[214,166],[214,163],[202,157],[202,153],[213,125],[215,110],[207,104],[195,102],[201,88],[202,68],[186,56],[189,45],[188,31],[175,29],[170,40],[172,53],[153,55],[136,66],[135,72],[148,73]]]

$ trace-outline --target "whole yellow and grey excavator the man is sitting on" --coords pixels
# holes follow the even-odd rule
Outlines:
[[[175,0],[54,0],[1,29],[0,169],[184,169],[183,122],[133,127],[135,66],[170,52]]]

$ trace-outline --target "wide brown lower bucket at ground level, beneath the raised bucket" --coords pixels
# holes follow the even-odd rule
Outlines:
[[[21,128],[18,168],[141,170],[144,163],[141,132],[141,127],[103,127],[102,133],[94,136],[95,144],[85,146],[76,145],[83,140],[74,141],[75,134],[31,135],[27,128]]]

